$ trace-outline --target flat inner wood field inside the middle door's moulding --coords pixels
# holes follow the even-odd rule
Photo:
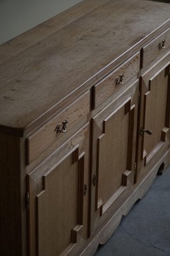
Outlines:
[[[104,120],[105,136],[99,141],[98,196],[103,204],[122,186],[122,173],[127,169],[129,115],[125,115],[124,107]]]

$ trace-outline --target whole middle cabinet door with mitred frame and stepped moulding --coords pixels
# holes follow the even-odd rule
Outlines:
[[[91,232],[134,183],[138,90],[136,81],[92,120]]]

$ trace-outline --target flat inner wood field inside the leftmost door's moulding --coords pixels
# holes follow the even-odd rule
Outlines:
[[[60,255],[72,241],[71,230],[78,223],[79,191],[78,163],[73,164],[72,157],[43,176],[45,186],[36,196],[39,256],[49,252]]]

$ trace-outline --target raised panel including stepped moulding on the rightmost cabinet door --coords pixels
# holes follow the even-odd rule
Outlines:
[[[147,87],[143,96],[143,125],[140,131],[141,160],[146,165],[164,147],[169,133],[169,66],[148,79],[147,84],[143,81],[142,86]]]

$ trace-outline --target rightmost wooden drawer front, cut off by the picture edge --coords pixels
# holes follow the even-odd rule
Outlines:
[[[169,51],[170,28],[142,48],[142,67]]]

